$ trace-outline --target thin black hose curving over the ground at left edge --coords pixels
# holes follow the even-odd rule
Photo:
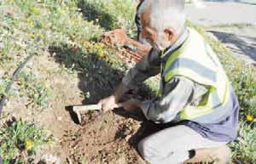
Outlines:
[[[25,67],[26,63],[32,59],[34,54],[30,54],[28,57],[26,57],[26,59],[19,65],[19,67],[15,70],[8,86],[5,88],[5,93],[3,95],[3,98],[1,99],[1,102],[0,102],[0,116],[2,114],[2,111],[3,111],[3,106],[4,106],[4,103],[7,99],[7,94],[9,93],[10,89],[12,88],[12,85],[14,84],[17,76],[20,74],[20,71]]]

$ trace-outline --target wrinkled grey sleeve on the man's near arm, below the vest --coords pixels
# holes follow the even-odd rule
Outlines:
[[[207,88],[182,76],[174,76],[164,87],[162,97],[143,102],[141,106],[148,120],[156,123],[172,122],[186,105],[207,93]]]

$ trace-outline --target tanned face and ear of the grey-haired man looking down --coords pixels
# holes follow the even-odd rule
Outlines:
[[[146,40],[153,48],[164,50],[172,45],[173,32],[171,29],[164,31],[156,31],[154,27],[150,26],[150,8],[141,14],[141,22],[143,29],[140,34],[142,40]]]

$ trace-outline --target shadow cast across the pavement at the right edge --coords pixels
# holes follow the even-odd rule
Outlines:
[[[256,37],[238,36],[232,33],[222,31],[209,31],[224,44],[228,46],[234,53],[243,54],[256,62]]]

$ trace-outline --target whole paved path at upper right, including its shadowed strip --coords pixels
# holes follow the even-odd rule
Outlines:
[[[229,47],[237,58],[245,59],[247,64],[256,64],[256,5],[205,4],[206,8],[187,5],[189,20],[194,24],[207,26],[207,30]]]

